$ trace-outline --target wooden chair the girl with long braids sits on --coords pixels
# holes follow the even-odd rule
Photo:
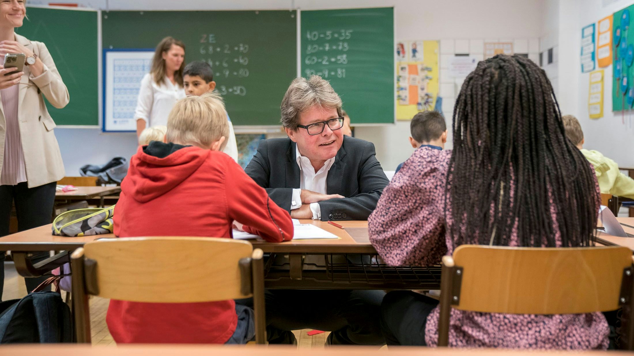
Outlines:
[[[438,346],[449,343],[451,308],[504,314],[632,308],[632,262],[632,251],[621,246],[459,246],[453,257],[443,257]],[[632,350],[634,328],[627,329],[627,347]]]

